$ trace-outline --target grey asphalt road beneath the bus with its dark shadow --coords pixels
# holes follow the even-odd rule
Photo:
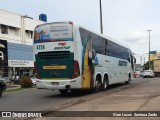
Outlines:
[[[150,79],[155,78],[137,78],[130,84],[117,84],[109,87],[107,91],[98,93],[83,92],[78,95],[69,94],[63,96],[59,91],[28,89],[17,92],[4,93],[0,98],[0,111],[47,111],[67,108],[69,106],[83,103],[89,100],[99,98],[103,95],[112,94],[123,89],[136,87]]]

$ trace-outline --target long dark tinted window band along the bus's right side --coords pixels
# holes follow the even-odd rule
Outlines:
[[[92,49],[99,54],[121,58],[130,61],[128,48],[107,40],[83,28],[80,28],[82,45],[86,47],[88,41],[92,41]]]

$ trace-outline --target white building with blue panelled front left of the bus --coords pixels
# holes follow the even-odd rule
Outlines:
[[[38,24],[27,15],[0,10],[0,76],[33,75],[33,30]]]

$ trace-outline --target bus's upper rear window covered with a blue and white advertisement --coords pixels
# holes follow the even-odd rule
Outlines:
[[[52,41],[73,41],[72,24],[50,23],[36,27],[34,43]]]

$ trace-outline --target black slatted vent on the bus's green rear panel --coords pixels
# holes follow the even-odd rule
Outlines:
[[[40,59],[68,58],[69,55],[70,51],[51,51],[38,53],[38,57]]]

